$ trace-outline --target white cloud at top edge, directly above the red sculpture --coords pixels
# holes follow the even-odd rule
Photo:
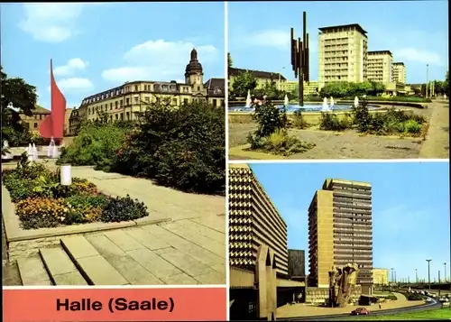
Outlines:
[[[78,32],[78,17],[87,5],[100,4],[25,4],[19,26],[37,41],[66,41]]]

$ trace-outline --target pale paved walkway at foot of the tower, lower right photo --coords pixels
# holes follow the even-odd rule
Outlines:
[[[393,292],[393,295],[396,296],[397,300],[383,303],[382,308],[379,308],[377,305],[372,306],[348,306],[346,308],[322,308],[315,307],[306,304],[287,304],[281,308],[277,308],[277,317],[278,318],[287,318],[287,317],[314,317],[314,316],[327,316],[333,314],[345,314],[351,313],[354,308],[367,308],[370,312],[379,311],[384,309],[391,308],[406,308],[406,307],[414,307],[417,305],[424,304],[422,300],[408,300],[406,297],[400,293]]]

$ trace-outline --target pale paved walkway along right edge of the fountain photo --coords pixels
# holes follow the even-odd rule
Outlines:
[[[419,158],[449,159],[449,101],[434,101],[428,134],[419,152]]]

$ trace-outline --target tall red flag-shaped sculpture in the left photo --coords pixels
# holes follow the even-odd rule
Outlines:
[[[66,113],[66,98],[58,88],[53,77],[51,61],[51,115],[48,115],[39,126],[39,133],[43,138],[51,139],[59,144],[64,134],[64,116]]]

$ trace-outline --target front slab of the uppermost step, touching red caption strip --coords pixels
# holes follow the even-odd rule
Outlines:
[[[78,258],[77,265],[90,285],[125,285],[129,283],[101,255]]]

